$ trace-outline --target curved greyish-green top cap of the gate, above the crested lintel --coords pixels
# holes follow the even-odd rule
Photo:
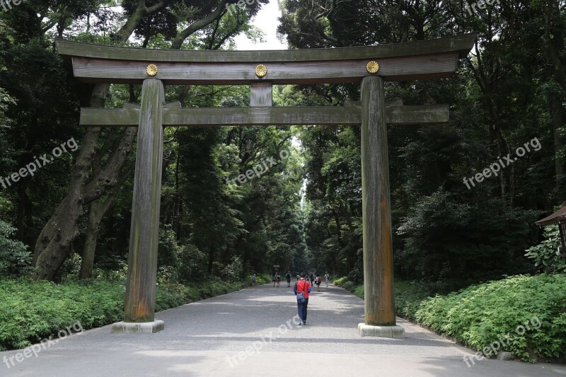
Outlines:
[[[278,50],[278,51],[195,51],[157,50],[93,45],[89,43],[56,40],[57,52],[66,56],[96,59],[138,60],[144,62],[313,62],[323,60],[382,59],[407,57],[442,52],[458,52],[466,57],[475,42],[476,33],[444,37],[435,40],[342,47],[332,49]]]

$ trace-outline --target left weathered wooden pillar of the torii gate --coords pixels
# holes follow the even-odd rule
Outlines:
[[[144,81],[139,110],[124,311],[124,321],[129,323],[154,320],[164,102],[163,83],[156,79]]]

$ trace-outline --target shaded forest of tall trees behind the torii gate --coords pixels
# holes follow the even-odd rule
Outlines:
[[[136,129],[79,127],[79,108],[139,103],[140,86],[84,85],[56,37],[144,48],[229,50],[268,0],[39,1],[0,11],[0,176],[74,138],[79,150],[0,187],[3,274],[81,278],[127,261]],[[449,124],[389,127],[395,274],[453,288],[535,272],[533,222],[565,198],[564,1],[280,1],[291,48],[478,33],[451,79],[387,83],[388,100],[448,103]],[[476,7],[477,8],[477,7]],[[357,85],[277,86],[275,105],[342,105]],[[184,107],[249,105],[248,87],[169,86]],[[463,178],[537,138],[468,190]],[[280,269],[362,280],[359,127],[166,129],[159,274],[175,282]],[[226,182],[272,156],[260,178]],[[16,242],[19,241],[18,242]],[[7,241],[6,241],[7,242]],[[35,269],[30,269],[33,264]]]

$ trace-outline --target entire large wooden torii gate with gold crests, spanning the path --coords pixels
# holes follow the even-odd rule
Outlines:
[[[456,71],[475,34],[437,40],[284,51],[147,50],[57,40],[74,76],[87,83],[142,84],[141,105],[81,109],[84,126],[139,127],[124,321],[112,332],[157,332],[157,245],[163,127],[362,125],[365,323],[362,336],[403,339],[395,325],[386,124],[448,122],[447,105],[386,105],[383,81],[440,79]],[[361,83],[362,102],[345,107],[272,107],[273,84]],[[181,108],[164,84],[250,85],[250,108]]]

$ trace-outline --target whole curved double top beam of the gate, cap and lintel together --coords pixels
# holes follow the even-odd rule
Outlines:
[[[155,79],[178,85],[357,83],[377,74],[388,81],[440,79],[454,74],[475,34],[394,45],[279,51],[159,50],[91,45],[57,40],[57,52],[70,57],[74,76],[89,83],[141,83],[155,64]],[[367,64],[379,63],[369,73]],[[265,75],[255,67],[264,64]]]

